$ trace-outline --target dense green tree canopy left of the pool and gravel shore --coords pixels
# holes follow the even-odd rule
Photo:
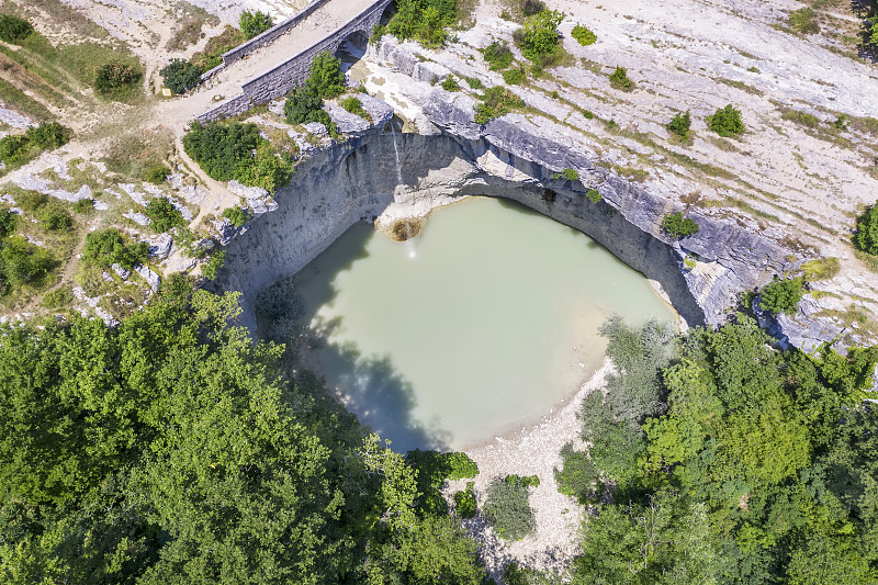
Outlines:
[[[238,313],[177,275],[116,327],[0,325],[5,580],[479,585],[403,458]]]

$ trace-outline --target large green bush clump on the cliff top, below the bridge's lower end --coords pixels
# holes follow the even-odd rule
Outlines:
[[[217,181],[232,179],[271,192],[290,181],[293,164],[278,156],[256,124],[192,124],[183,136],[185,153]]]

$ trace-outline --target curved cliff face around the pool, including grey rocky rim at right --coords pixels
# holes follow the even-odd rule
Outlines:
[[[722,322],[739,291],[784,268],[783,250],[769,241],[707,217],[699,218],[696,236],[666,241],[657,235],[668,211],[661,196],[577,160],[600,181],[604,199],[595,203],[582,182],[554,179],[558,168],[510,151],[554,153],[555,162],[571,162],[563,145],[540,140],[548,138],[528,138],[514,123],[493,123],[477,139],[373,133],[326,149],[274,195],[277,210],[229,243],[214,286],[243,291],[244,320],[254,326],[257,293],[302,269],[353,223],[390,226],[466,195],[511,199],[584,232],[656,281],[690,325]],[[699,257],[695,269],[683,268],[687,252]]]

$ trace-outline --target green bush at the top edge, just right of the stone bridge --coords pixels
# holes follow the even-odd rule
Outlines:
[[[448,41],[446,27],[457,19],[455,0],[397,0],[387,32],[402,41],[439,47]]]

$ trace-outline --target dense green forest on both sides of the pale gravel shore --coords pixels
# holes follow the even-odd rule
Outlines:
[[[172,278],[114,328],[0,327],[0,582],[488,583],[438,493],[473,462],[394,453],[238,311]],[[744,316],[604,334],[617,373],[558,470],[588,509],[574,583],[876,582],[878,350]]]

